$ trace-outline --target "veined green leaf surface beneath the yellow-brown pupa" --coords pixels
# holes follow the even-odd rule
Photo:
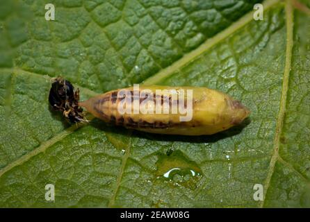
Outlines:
[[[310,3],[267,0],[255,21],[256,2],[55,0],[55,21],[1,2],[0,207],[310,207]],[[199,137],[70,126],[49,108],[58,75],[82,99],[197,85],[252,114]]]

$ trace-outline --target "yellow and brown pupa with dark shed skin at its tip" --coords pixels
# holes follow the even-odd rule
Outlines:
[[[78,91],[74,92],[67,80],[56,78],[54,88],[66,88],[64,83],[72,88],[67,96],[69,101],[61,103],[62,98],[52,86],[50,97],[53,94],[56,99],[49,102],[70,104],[61,111],[71,122],[83,121],[83,107],[105,122],[148,133],[212,135],[241,123],[250,114],[231,96],[206,87],[134,85],[79,101]]]

